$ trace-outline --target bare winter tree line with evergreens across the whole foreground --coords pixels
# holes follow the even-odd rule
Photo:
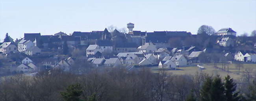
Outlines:
[[[0,83],[0,101],[255,101],[255,92],[255,82],[242,84],[229,75],[221,79],[124,68],[92,69],[82,75],[50,70],[5,77]]]

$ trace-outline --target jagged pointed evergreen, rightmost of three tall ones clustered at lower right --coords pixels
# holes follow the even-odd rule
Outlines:
[[[236,91],[236,83],[233,83],[233,78],[230,75],[225,77],[224,87],[226,101],[239,101],[239,92],[234,93]]]

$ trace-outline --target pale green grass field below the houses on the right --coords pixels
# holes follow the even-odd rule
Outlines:
[[[217,64],[217,67],[219,68],[214,68],[213,64],[204,64],[203,65],[206,69],[204,70],[199,70],[197,66],[191,66],[191,67],[180,67],[177,68],[177,70],[166,70],[168,73],[172,73],[174,75],[193,75],[196,72],[204,72],[208,74],[213,74],[213,75],[221,75],[221,77],[225,77],[226,75],[230,75],[234,79],[240,79],[246,69],[251,68],[252,72],[256,72],[256,64],[243,64],[243,68],[240,68],[240,74],[238,74],[238,69],[236,68],[235,64],[229,64],[229,72],[226,70],[222,70],[222,65]],[[158,72],[157,70],[158,67],[153,67],[151,70],[152,72]]]

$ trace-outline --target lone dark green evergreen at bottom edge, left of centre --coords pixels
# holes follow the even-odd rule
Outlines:
[[[67,87],[66,92],[61,92],[64,101],[80,101],[79,96],[82,94],[82,87],[80,84],[73,84]]]

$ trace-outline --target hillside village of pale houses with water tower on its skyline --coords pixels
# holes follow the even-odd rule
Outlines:
[[[0,43],[0,75],[61,69],[81,73],[85,67],[176,67],[201,63],[256,63],[256,37],[237,36],[235,29],[219,29],[212,35],[186,31],[128,32],[74,31],[54,35],[24,33],[21,39]],[[199,66],[200,67],[200,66]],[[199,68],[198,67],[198,68]]]

